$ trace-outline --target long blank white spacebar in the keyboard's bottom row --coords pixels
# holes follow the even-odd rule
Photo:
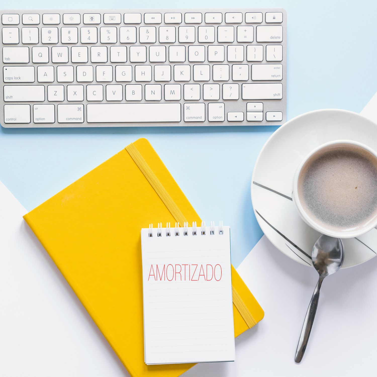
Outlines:
[[[179,103],[103,103],[86,106],[88,123],[180,122]]]

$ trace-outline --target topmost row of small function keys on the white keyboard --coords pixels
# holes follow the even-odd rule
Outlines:
[[[83,23],[87,25],[99,25],[101,23],[100,13],[85,13],[83,15]],[[141,13],[124,13],[123,21],[125,24],[141,24],[143,15]],[[245,23],[262,23],[263,13],[262,12],[247,12],[245,15],[241,12],[227,12],[225,13],[225,23],[229,24],[240,24],[245,19]],[[166,24],[181,24],[182,23],[182,13],[165,13],[163,17],[164,23]],[[185,13],[184,22],[187,24],[200,24],[203,21],[202,13]],[[59,13],[45,13],[42,15],[42,23],[44,25],[59,25],[61,22]],[[120,24],[122,22],[122,15],[120,13],[104,13],[103,23],[104,24]],[[221,24],[223,22],[223,15],[220,12],[205,13],[204,22],[207,24]],[[266,23],[282,23],[283,13],[282,12],[266,12],[265,13]],[[39,25],[40,15],[35,14],[23,14],[22,15],[23,25]],[[79,25],[81,23],[81,14],[79,13],[64,13],[63,14],[63,24],[64,25]],[[144,23],[145,24],[161,24],[162,14],[161,13],[144,13]],[[3,14],[2,15],[3,25],[19,25],[20,15],[19,14]]]

